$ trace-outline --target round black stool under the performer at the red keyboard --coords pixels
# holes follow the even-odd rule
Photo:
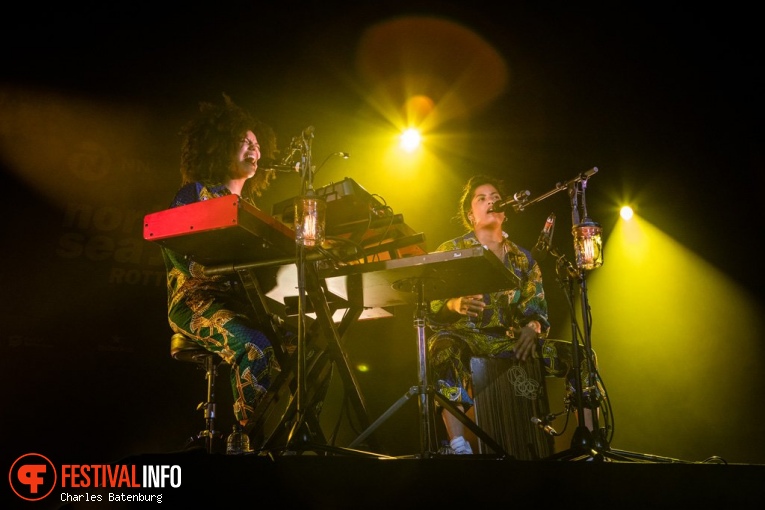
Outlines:
[[[195,363],[205,371],[207,399],[197,406],[197,411],[204,410],[205,429],[192,437],[187,446],[194,441],[204,439],[207,452],[212,453],[213,439],[220,436],[215,430],[215,379],[218,375],[218,364],[215,363],[215,358],[217,355],[180,333],[170,338],[170,355],[178,361]]]

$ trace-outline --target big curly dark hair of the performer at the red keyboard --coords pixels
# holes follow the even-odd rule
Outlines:
[[[276,135],[267,124],[256,119],[223,94],[223,104],[199,103],[199,114],[181,128],[181,185],[202,182],[220,184],[228,177],[231,155],[252,131],[260,144],[261,157],[272,158]],[[275,177],[274,170],[258,168],[247,179],[243,198],[261,196]]]

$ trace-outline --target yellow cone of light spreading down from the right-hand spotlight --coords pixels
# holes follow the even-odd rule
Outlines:
[[[762,375],[741,356],[765,332],[754,296],[637,213],[613,225],[589,290],[592,347],[621,444],[683,457],[693,453],[667,430],[708,445],[748,419],[744,389]]]

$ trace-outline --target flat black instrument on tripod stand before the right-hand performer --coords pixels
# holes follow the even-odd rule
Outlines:
[[[395,306],[414,300],[414,326],[417,329],[418,381],[387,411],[354,439],[349,447],[360,445],[398,409],[417,395],[419,405],[420,456],[433,457],[435,444],[435,402],[451,412],[498,455],[507,452],[451,401],[435,391],[428,375],[425,314],[428,302],[461,294],[494,292],[513,288],[515,274],[483,247],[365,264],[360,272],[365,306]],[[338,275],[335,275],[337,277]],[[358,275],[354,275],[358,276]]]

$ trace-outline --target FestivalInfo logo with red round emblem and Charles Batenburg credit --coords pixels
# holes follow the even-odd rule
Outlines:
[[[25,501],[56,497],[69,502],[154,502],[162,494],[142,489],[177,489],[177,465],[61,464],[58,467],[39,453],[27,453],[11,465],[8,480],[14,494]],[[56,489],[57,496],[52,496]]]

